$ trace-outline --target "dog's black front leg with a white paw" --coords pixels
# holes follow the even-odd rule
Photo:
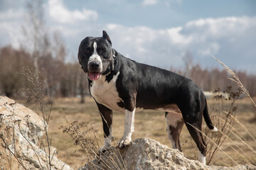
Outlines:
[[[96,102],[97,103],[97,102]],[[107,149],[110,149],[112,136],[112,110],[103,106],[100,103],[97,103],[97,106],[100,111],[100,116],[102,117],[103,131],[104,131],[104,146],[100,149],[100,152],[104,152]]]

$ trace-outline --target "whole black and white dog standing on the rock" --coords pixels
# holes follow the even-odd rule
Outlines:
[[[208,114],[206,97],[190,79],[174,72],[130,60],[112,48],[109,35],[87,37],[80,43],[78,59],[88,74],[90,94],[95,99],[103,122],[105,144],[112,140],[112,111],[125,113],[124,135],[117,147],[132,141],[135,111],[153,109],[166,112],[166,129],[175,149],[181,151],[179,135],[183,123],[199,149],[199,161],[206,164],[206,143],[201,133],[202,120],[217,131]],[[178,106],[181,113],[173,111]]]

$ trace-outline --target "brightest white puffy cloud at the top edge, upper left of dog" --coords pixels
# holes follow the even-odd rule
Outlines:
[[[62,0],[48,1],[49,15],[58,23],[75,23],[76,21],[95,21],[97,11],[83,8],[82,11],[69,11],[63,6]]]

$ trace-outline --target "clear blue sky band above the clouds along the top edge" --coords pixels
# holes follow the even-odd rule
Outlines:
[[[100,23],[119,23],[129,27],[148,26],[155,29],[183,26],[188,21],[198,18],[256,14],[256,1],[156,0],[148,5],[138,0],[84,2],[65,0],[63,2],[70,8],[82,9],[85,6],[97,11],[99,14],[97,21]]]

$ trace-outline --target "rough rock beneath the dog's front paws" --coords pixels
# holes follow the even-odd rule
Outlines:
[[[101,154],[80,167],[87,169],[256,169],[252,165],[239,165],[234,167],[206,166],[201,162],[186,159],[183,153],[170,149],[166,145],[148,138],[139,138],[124,149],[111,147],[110,151]]]

